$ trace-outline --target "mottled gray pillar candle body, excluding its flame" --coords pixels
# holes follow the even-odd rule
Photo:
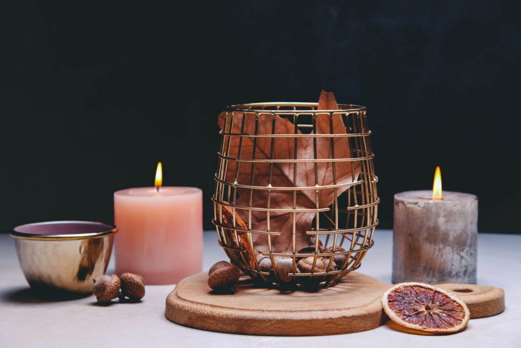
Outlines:
[[[478,198],[443,191],[394,195],[393,283],[476,284]]]

